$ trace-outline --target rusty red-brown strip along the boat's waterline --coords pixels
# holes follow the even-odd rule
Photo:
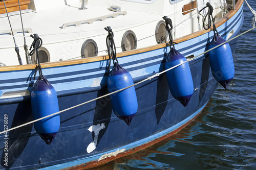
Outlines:
[[[202,109],[203,110],[203,109]],[[73,170],[78,170],[78,169],[88,169],[88,168],[93,168],[93,167],[97,167],[97,166],[100,166],[100,165],[103,165],[105,163],[108,163],[110,161],[113,161],[115,159],[118,159],[118,158],[121,158],[121,157],[124,157],[124,156],[127,156],[127,155],[131,155],[131,154],[134,154],[136,152],[139,152],[143,149],[146,149],[148,147],[150,147],[151,145],[153,144],[156,144],[176,133],[178,133],[179,131],[181,131],[183,128],[185,128],[188,124],[190,124],[191,122],[193,122],[193,120],[195,120],[199,114],[201,114],[202,110],[195,116],[193,117],[192,119],[190,119],[187,123],[185,123],[184,125],[182,125],[181,127],[179,127],[178,129],[162,136],[162,137],[159,137],[155,140],[152,140],[150,142],[147,142],[145,144],[142,144],[136,148],[133,148],[133,149],[130,149],[130,150],[127,150],[123,153],[119,153],[117,154],[116,156],[112,156],[112,157],[108,157],[108,158],[105,158],[105,159],[102,159],[100,161],[96,160],[96,161],[92,161],[92,162],[88,162],[88,163],[83,163],[83,164],[80,164],[80,165],[75,165],[75,166],[72,166],[72,167],[68,167],[68,168],[63,168],[62,170],[68,170],[68,169],[73,169]]]

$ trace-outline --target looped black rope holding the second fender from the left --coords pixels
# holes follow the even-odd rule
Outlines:
[[[115,60],[118,63],[118,60],[116,58],[116,45],[114,42],[114,33],[110,27],[106,27],[105,30],[109,32],[109,35],[106,37],[106,47],[108,48],[109,54],[108,70],[110,70],[111,59],[113,60],[113,64],[115,64]]]

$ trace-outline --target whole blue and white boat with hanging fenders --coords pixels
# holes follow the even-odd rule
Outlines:
[[[193,121],[222,82],[210,51],[228,46],[232,63],[244,18],[244,0],[206,2],[30,0],[0,14],[0,169],[96,167]]]

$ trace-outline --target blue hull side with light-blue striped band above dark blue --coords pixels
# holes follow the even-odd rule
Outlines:
[[[234,30],[232,37],[239,33],[243,23],[242,10],[243,8],[230,19],[228,27],[225,24],[219,27],[221,36],[226,38],[231,30]],[[212,37],[213,33],[209,32],[195,39],[181,42],[176,48],[185,57],[196,56],[206,50],[206,44]],[[234,52],[236,43],[236,40],[230,42],[232,52]],[[118,60],[122,67],[131,72],[134,83],[136,83],[164,69],[163,63],[168,49],[167,46],[137,54],[141,55],[140,62],[131,61],[131,56],[120,57]],[[145,57],[143,58],[143,56]],[[60,71],[58,72],[58,69],[62,69],[61,67],[44,69],[46,78],[57,91],[59,110],[107,94],[107,68],[102,66],[107,62],[95,62],[93,64],[97,67],[93,70],[88,68],[91,70],[80,71],[79,74],[84,74],[84,77],[69,77],[71,75],[68,73],[63,75]],[[139,64],[142,62],[147,63]],[[80,64],[81,67],[85,67],[84,65]],[[76,66],[79,67],[79,64]],[[212,77],[207,54],[189,62],[189,66],[194,83],[194,93],[187,107],[180,104],[170,94],[166,75],[163,74],[135,86],[138,111],[130,126],[116,117],[112,111],[110,98],[105,97],[61,113],[60,129],[51,145],[45,144],[35,132],[33,124],[30,124],[8,133],[8,152],[5,152],[4,141],[6,139],[2,134],[0,140],[1,169],[6,167],[10,169],[61,169],[77,165],[87,168],[90,167],[90,162],[100,164],[106,158],[125,155],[141,145],[146,146],[151,141],[177,132],[179,128],[201,112],[218,87],[218,82]],[[69,69],[68,66],[67,69]],[[93,73],[97,71],[98,74]],[[51,74],[52,72],[54,74]],[[76,75],[74,72],[73,75]],[[90,72],[92,72],[91,75]],[[136,73],[139,76],[136,76]],[[8,74],[20,74],[22,76],[0,83],[24,82],[11,88],[13,90],[32,90],[31,79],[34,70],[23,70],[18,73],[17,71],[15,73],[6,71],[3,74],[7,76]],[[27,77],[24,78],[24,75]],[[61,76],[69,78],[59,80],[58,78]],[[98,77],[100,77],[97,80],[100,85],[93,86],[92,84]],[[5,89],[8,91],[7,85],[2,85],[2,87],[0,92],[4,93]],[[29,96],[1,99],[0,110],[3,114],[8,115],[9,129],[33,120]],[[3,118],[1,117],[0,120],[2,121]],[[8,166],[4,162],[6,153],[8,153]]]

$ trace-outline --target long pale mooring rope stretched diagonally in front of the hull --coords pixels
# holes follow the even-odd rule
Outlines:
[[[245,0],[245,2],[246,2],[246,0]],[[246,3],[247,3],[247,2],[246,2]],[[247,4],[247,5],[248,5],[248,4]],[[248,7],[249,7],[249,5],[248,5]],[[251,9],[251,7],[249,7],[249,8]],[[252,9],[252,10],[253,10],[253,9]],[[253,11],[254,11],[254,10],[253,10]],[[253,13],[253,12],[252,12],[252,13]],[[255,14],[256,14],[256,12],[254,11],[254,16],[255,16],[255,18],[256,18],[256,15],[255,15]],[[180,64],[175,65],[175,66],[173,66],[173,67],[170,67],[170,68],[168,68],[168,69],[166,69],[166,70],[163,70],[163,71],[161,71],[161,72],[158,72],[157,74],[155,74],[155,75],[153,75],[153,76],[151,76],[151,77],[148,77],[148,78],[146,78],[146,79],[144,79],[144,80],[141,80],[140,82],[137,82],[137,83],[135,83],[135,84],[133,84],[133,85],[131,85],[131,86],[122,88],[122,89],[117,90],[117,91],[113,91],[113,92],[111,92],[111,93],[102,95],[102,96],[100,96],[100,97],[98,97],[98,98],[92,99],[92,100],[90,100],[90,101],[87,101],[87,102],[78,104],[78,105],[76,105],[76,106],[73,106],[73,107],[70,107],[70,108],[67,108],[67,109],[64,109],[64,110],[61,110],[61,111],[59,111],[59,112],[50,114],[50,115],[48,115],[48,116],[35,119],[35,120],[33,120],[33,121],[31,121],[31,122],[28,122],[28,123],[26,123],[26,124],[19,125],[19,126],[16,126],[16,127],[14,127],[14,128],[5,130],[5,131],[3,131],[3,132],[0,132],[0,134],[5,133],[5,132],[8,132],[8,131],[12,131],[12,130],[14,130],[14,129],[17,129],[17,128],[20,128],[20,127],[23,127],[23,126],[26,126],[26,125],[29,125],[29,124],[33,124],[34,122],[37,122],[37,121],[42,120],[42,119],[44,119],[44,118],[48,118],[48,117],[54,116],[54,115],[56,115],[56,114],[59,114],[59,113],[62,113],[62,112],[65,112],[65,111],[74,109],[74,108],[76,108],[76,107],[79,107],[79,106],[82,106],[82,105],[84,105],[84,104],[87,104],[87,103],[96,101],[96,100],[98,100],[98,99],[102,99],[102,98],[104,98],[104,97],[106,97],[106,96],[109,96],[109,95],[111,95],[111,94],[117,93],[117,92],[122,91],[122,90],[125,90],[125,89],[127,89],[127,88],[136,86],[136,85],[138,85],[138,84],[140,84],[140,83],[143,83],[143,82],[145,82],[145,81],[147,81],[147,80],[151,80],[151,79],[153,79],[153,78],[156,78],[156,77],[160,76],[161,74],[163,74],[164,72],[169,71],[169,70],[171,70],[171,69],[174,69],[174,68],[176,68],[176,67],[178,67],[178,66],[180,66],[180,65],[182,65],[182,64],[184,64],[184,63],[186,63],[186,62],[192,61],[192,60],[196,59],[197,57],[202,56],[203,54],[208,53],[209,51],[214,50],[215,48],[218,48],[219,46],[221,46],[221,45],[223,45],[223,44],[225,44],[225,43],[227,43],[227,42],[229,42],[229,41],[232,41],[233,39],[236,39],[236,38],[240,37],[241,35],[244,35],[244,34],[250,32],[251,30],[253,30],[253,29],[255,29],[255,28],[256,28],[256,27],[253,25],[253,27],[252,27],[251,29],[249,29],[249,30],[247,30],[247,31],[245,31],[245,32],[243,32],[243,33],[241,33],[241,34],[239,34],[238,36],[233,37],[233,38],[231,38],[231,39],[229,39],[229,40],[227,40],[227,41],[225,41],[225,42],[223,42],[223,43],[221,43],[221,44],[219,44],[219,45],[217,45],[217,46],[211,48],[210,50],[205,51],[205,52],[202,53],[202,54],[199,54],[199,55],[197,55],[197,56],[195,56],[195,57],[193,57],[193,58],[191,58],[191,59],[188,59],[187,61],[185,61],[185,62],[183,62],[183,63],[180,63]]]

